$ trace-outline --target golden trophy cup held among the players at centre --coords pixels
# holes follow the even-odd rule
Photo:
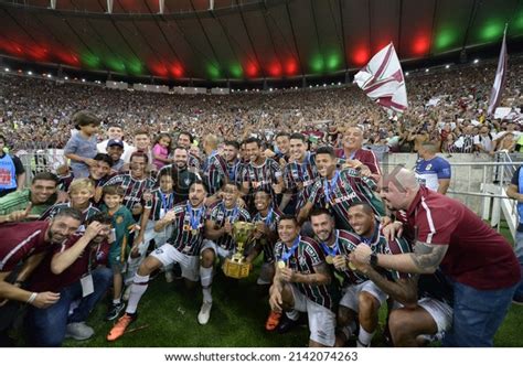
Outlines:
[[[236,253],[226,258],[223,265],[223,272],[231,278],[242,279],[249,275],[250,264],[245,262],[245,245],[249,240],[255,225],[249,222],[235,222],[233,224],[233,238],[236,241]]]

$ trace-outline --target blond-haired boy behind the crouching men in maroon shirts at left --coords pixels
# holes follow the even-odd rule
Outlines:
[[[95,185],[89,179],[73,180],[70,185],[71,202],[58,203],[51,206],[39,218],[39,221],[51,221],[60,211],[66,207],[74,207],[82,212],[82,225],[78,227],[78,233],[85,230],[84,223],[100,213],[100,211],[93,205],[90,200],[95,195]]]

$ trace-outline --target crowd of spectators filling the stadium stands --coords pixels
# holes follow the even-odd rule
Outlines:
[[[72,115],[92,110],[104,124],[116,122],[127,131],[188,130],[196,138],[257,135],[265,139],[278,131],[311,131],[335,139],[348,125],[365,129],[367,146],[392,152],[417,151],[436,141],[441,152],[490,152],[517,149],[517,111],[506,120],[487,117],[495,61],[406,76],[409,107],[391,116],[354,84],[300,90],[230,95],[172,95],[116,90],[106,87],[0,76],[0,135],[14,150],[63,148],[74,129]],[[509,65],[502,107],[523,105],[523,58]],[[484,128],[482,128],[484,127]],[[103,136],[99,136],[103,138]],[[130,139],[130,136],[127,136]]]

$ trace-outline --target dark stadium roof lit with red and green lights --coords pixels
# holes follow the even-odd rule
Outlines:
[[[211,2],[2,0],[0,54],[128,76],[248,80],[343,73],[391,41],[402,60],[424,60],[500,44],[506,22],[510,39],[523,35],[519,0]]]

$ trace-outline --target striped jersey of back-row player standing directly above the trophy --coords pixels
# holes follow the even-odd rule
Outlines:
[[[270,192],[274,197],[273,184],[276,184],[281,176],[279,163],[267,158],[262,165],[249,162],[244,169],[243,181],[248,183],[249,194],[257,190],[264,190]]]

